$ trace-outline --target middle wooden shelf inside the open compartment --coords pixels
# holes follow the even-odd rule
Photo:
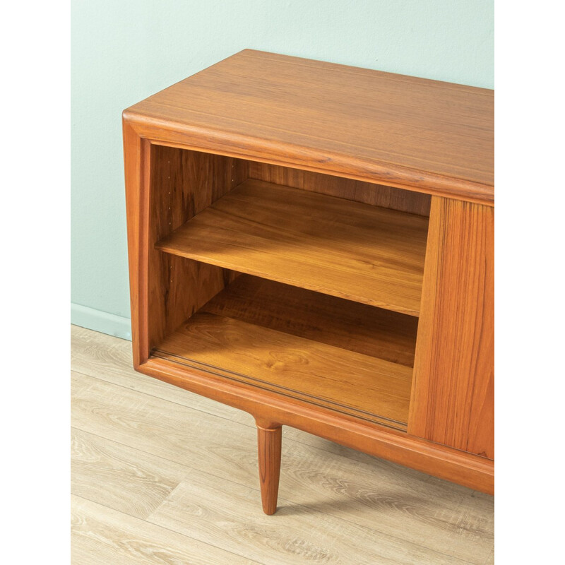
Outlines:
[[[428,221],[249,179],[156,248],[418,316]]]

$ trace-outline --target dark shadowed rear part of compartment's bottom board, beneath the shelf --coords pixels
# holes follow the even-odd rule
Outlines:
[[[200,311],[412,367],[417,319],[241,275]]]

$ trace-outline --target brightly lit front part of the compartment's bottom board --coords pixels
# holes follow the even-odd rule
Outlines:
[[[198,312],[153,357],[369,422],[406,429],[412,369]]]

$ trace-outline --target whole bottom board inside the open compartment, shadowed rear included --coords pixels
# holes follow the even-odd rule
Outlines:
[[[405,431],[415,324],[241,275],[152,355]]]

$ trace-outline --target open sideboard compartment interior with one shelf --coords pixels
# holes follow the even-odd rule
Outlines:
[[[150,355],[405,431],[430,197],[151,151]]]

